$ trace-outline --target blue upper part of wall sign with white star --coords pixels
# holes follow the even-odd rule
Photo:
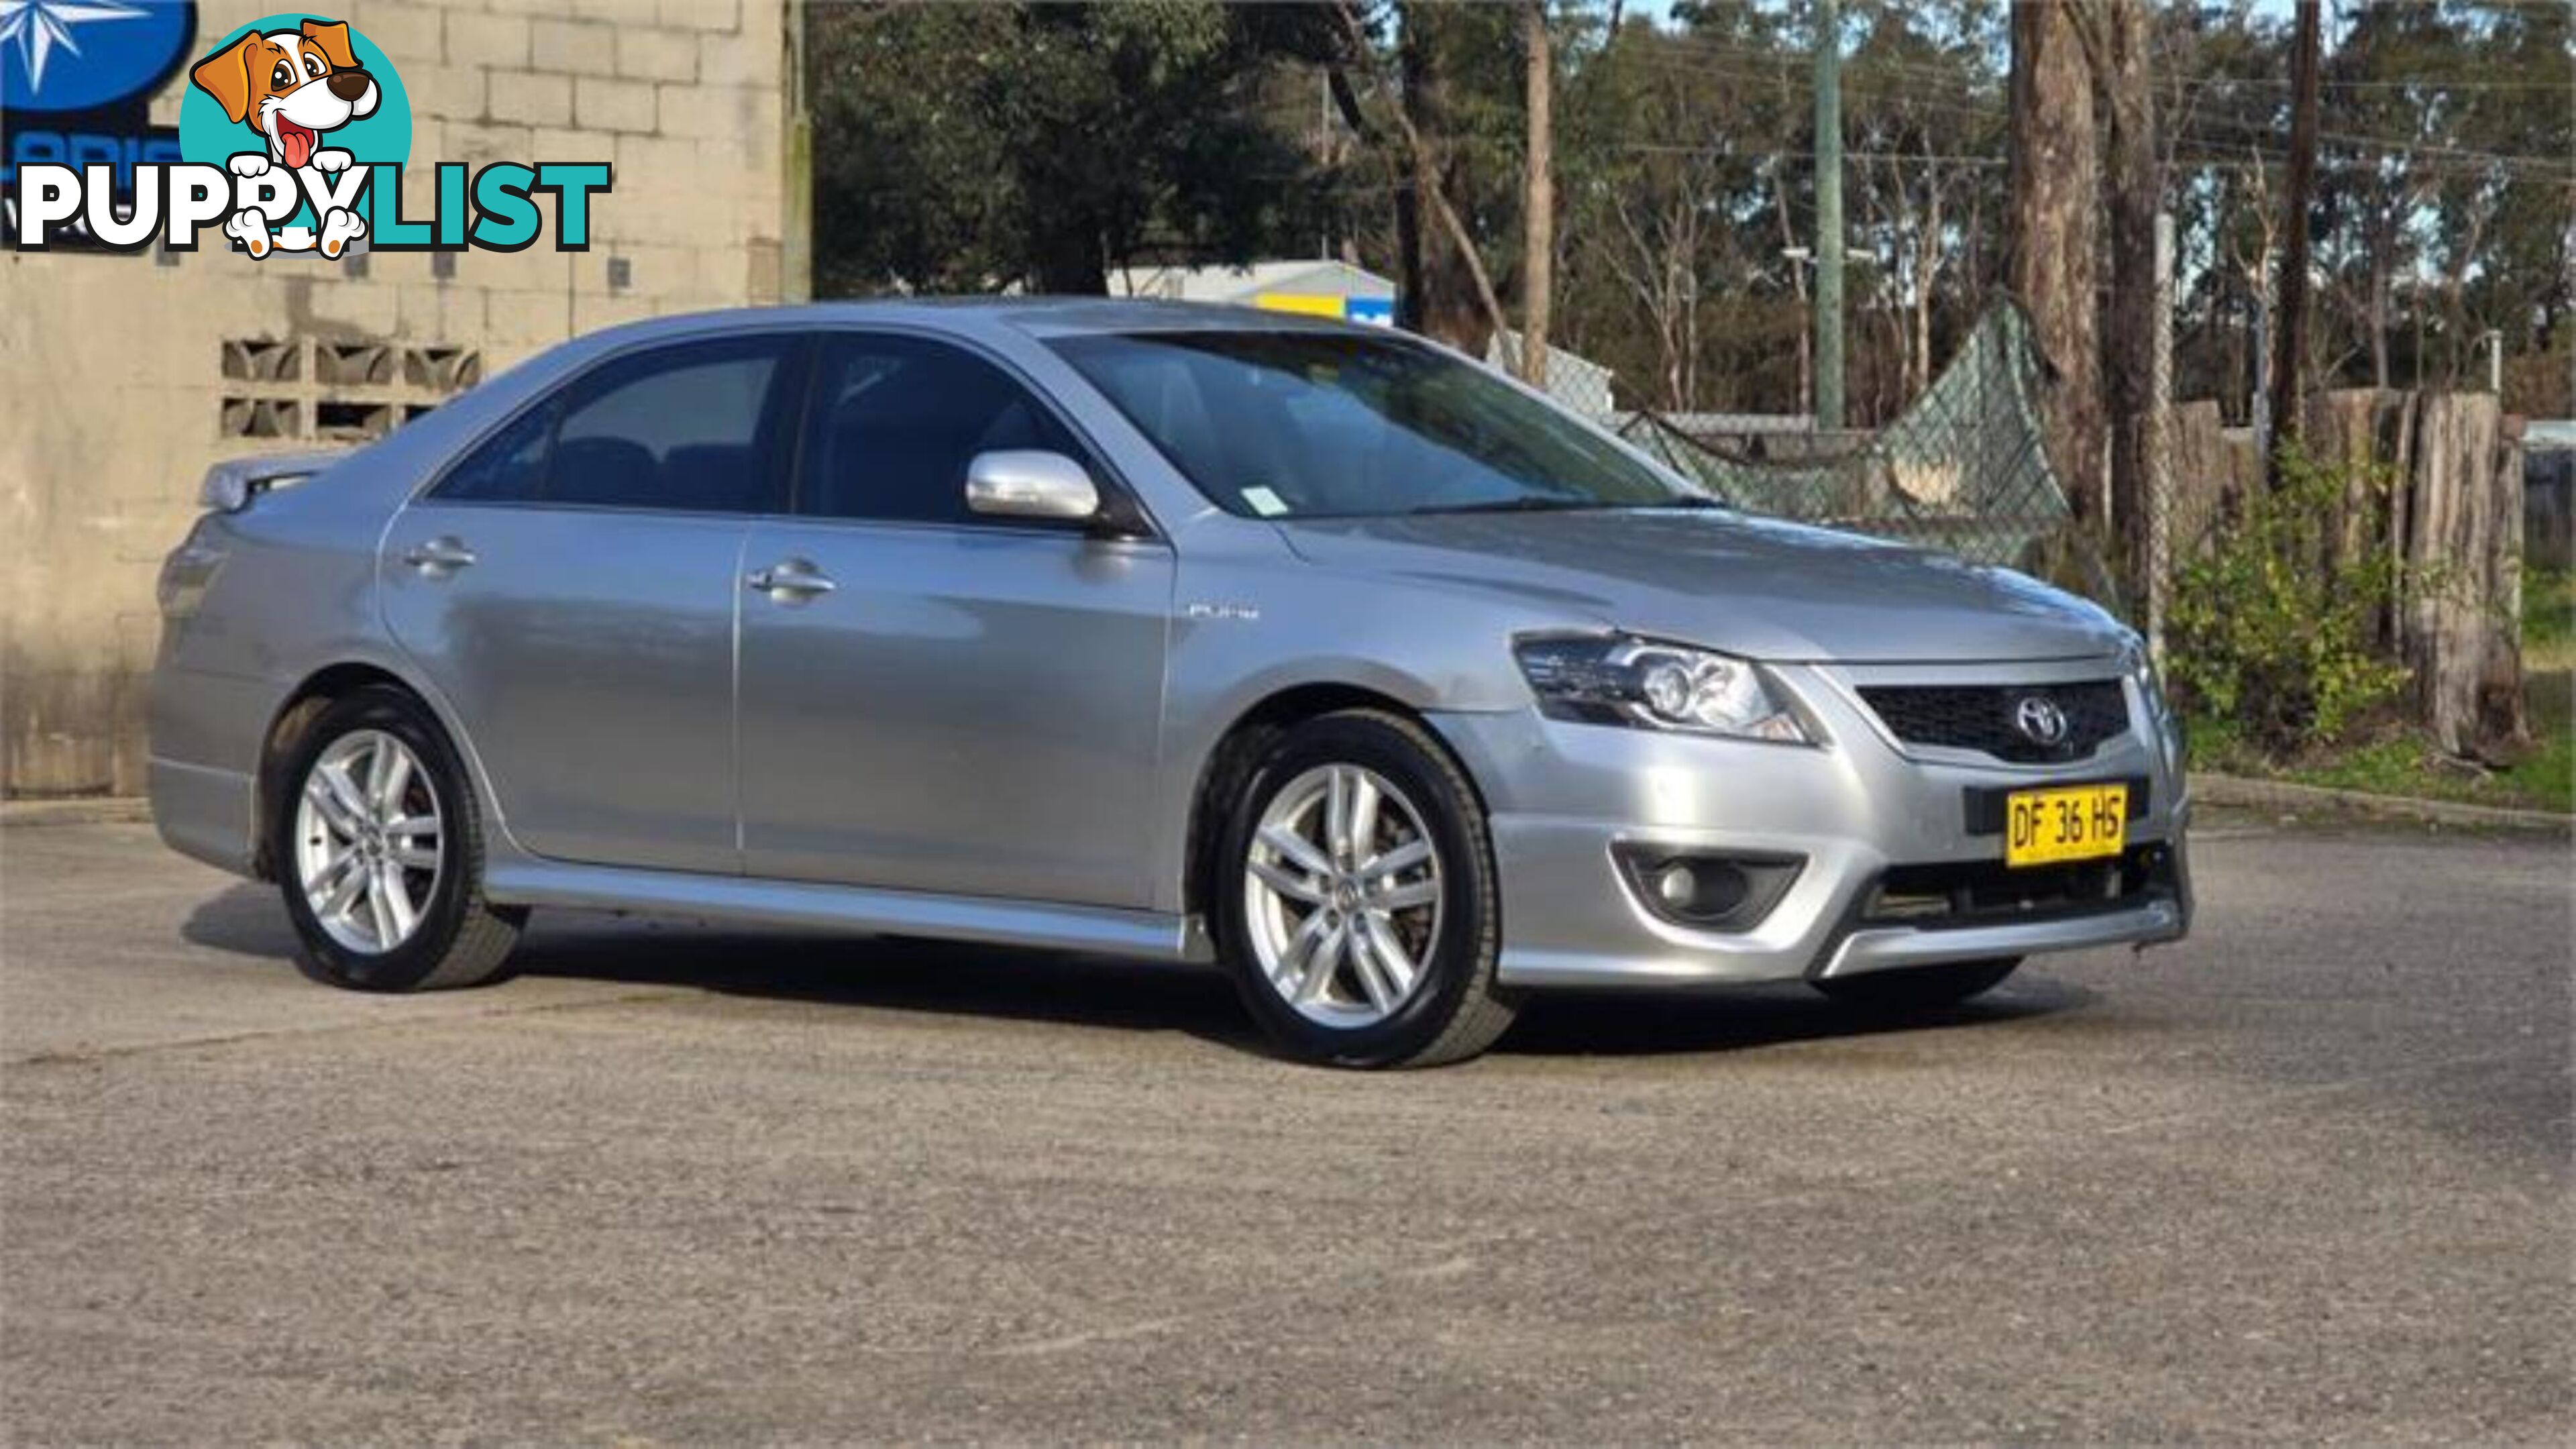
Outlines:
[[[149,101],[196,36],[196,0],[0,0],[0,106]]]

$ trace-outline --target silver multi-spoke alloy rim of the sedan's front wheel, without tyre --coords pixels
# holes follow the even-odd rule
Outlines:
[[[1422,812],[1363,766],[1291,779],[1244,859],[1262,980],[1321,1026],[1373,1026],[1412,1000],[1440,941],[1440,897]]]

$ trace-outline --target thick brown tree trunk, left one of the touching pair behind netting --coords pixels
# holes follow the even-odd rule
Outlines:
[[[2048,358],[2048,464],[2076,526],[2102,534],[2099,180],[2092,77],[2063,0],[2012,8],[2012,291]]]

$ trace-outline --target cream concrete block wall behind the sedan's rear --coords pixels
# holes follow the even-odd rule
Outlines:
[[[430,253],[363,263],[0,250],[0,789],[139,792],[160,557],[222,456],[322,446],[237,438],[227,340],[471,348],[482,374],[567,335],[781,302],[783,0],[343,0],[319,13],[384,46],[412,101],[404,191],[456,160],[608,160],[587,253]],[[273,5],[204,0],[196,49]],[[155,98],[178,124],[185,70]],[[417,211],[415,211],[417,214]],[[626,286],[611,286],[611,260]],[[397,389],[399,392],[399,389]],[[361,397],[379,397],[358,389]],[[399,402],[425,402],[417,389]]]

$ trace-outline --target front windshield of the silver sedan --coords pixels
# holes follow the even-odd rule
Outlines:
[[[1708,505],[1486,369],[1401,338],[1113,333],[1054,348],[1247,518]]]

